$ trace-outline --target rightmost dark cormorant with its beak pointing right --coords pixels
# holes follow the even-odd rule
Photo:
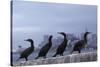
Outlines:
[[[81,53],[81,49],[84,48],[85,45],[87,44],[87,35],[88,34],[90,34],[90,32],[85,32],[84,33],[84,39],[75,43],[72,52],[78,51],[78,53]]]

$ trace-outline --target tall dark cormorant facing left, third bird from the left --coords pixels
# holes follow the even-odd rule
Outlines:
[[[55,54],[53,57],[56,57],[58,54],[59,54],[60,56],[63,56],[63,53],[64,53],[64,51],[65,51],[65,48],[66,48],[67,42],[68,42],[68,40],[67,40],[67,38],[66,38],[66,34],[65,34],[64,32],[58,32],[58,34],[63,35],[63,36],[64,36],[64,40],[63,40],[63,42],[58,46],[57,52],[56,52],[56,54]]]

